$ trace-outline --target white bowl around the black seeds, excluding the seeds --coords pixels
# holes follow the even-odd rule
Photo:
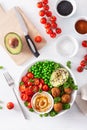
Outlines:
[[[67,15],[67,16],[63,16],[63,15],[61,15],[61,14],[57,11],[57,5],[58,5],[61,1],[68,1],[68,2],[70,2],[70,3],[72,4],[72,6],[73,6],[72,12],[71,12],[69,15]],[[55,8],[55,10],[56,10],[56,13],[57,13],[57,15],[58,15],[59,17],[61,17],[61,18],[69,18],[69,17],[71,17],[71,16],[76,12],[76,2],[75,2],[75,0],[58,0],[57,3],[56,3],[56,8]]]

